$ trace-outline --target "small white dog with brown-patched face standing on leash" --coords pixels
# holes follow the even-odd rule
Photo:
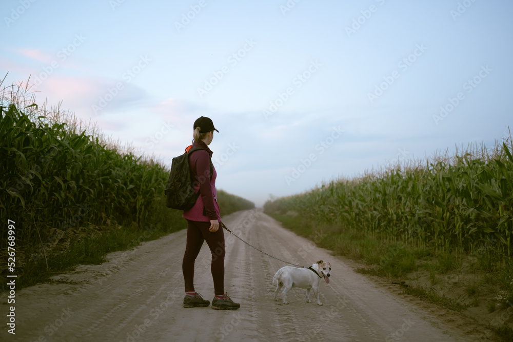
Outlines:
[[[319,300],[319,284],[321,283],[322,278],[324,278],[324,281],[328,284],[330,275],[331,265],[329,263],[325,263],[323,260],[317,261],[317,263],[308,268],[291,266],[282,267],[272,278],[273,284],[274,281],[278,281],[276,291],[274,291],[274,300],[278,300],[278,291],[284,287],[283,304],[288,304],[287,292],[293,287],[299,287],[306,289],[307,303],[311,303],[310,289],[313,289],[313,295],[317,298],[317,305],[322,305],[321,300]]]

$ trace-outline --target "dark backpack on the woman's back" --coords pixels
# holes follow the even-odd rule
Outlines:
[[[196,204],[200,196],[194,192],[193,179],[189,168],[189,155],[197,150],[205,150],[202,147],[189,146],[185,153],[173,158],[171,172],[167,181],[164,193],[166,194],[166,207],[178,210],[189,210]],[[206,151],[206,150],[205,150]],[[212,179],[213,168],[210,160],[210,179]]]

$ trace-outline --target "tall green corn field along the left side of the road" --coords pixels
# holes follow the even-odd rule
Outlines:
[[[120,225],[186,227],[182,211],[165,207],[169,168],[123,150],[58,107],[38,108],[26,89],[6,89],[0,93],[0,218],[15,222],[18,265],[77,227],[88,235]],[[228,204],[223,214],[254,207],[232,196],[220,194]],[[0,254],[7,253],[7,229],[1,235]]]

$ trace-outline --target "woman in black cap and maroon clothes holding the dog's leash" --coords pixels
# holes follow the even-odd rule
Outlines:
[[[208,145],[214,137],[212,120],[202,116],[194,122],[192,147],[201,147],[189,155],[189,167],[192,179],[195,181],[194,190],[200,191],[196,204],[185,210],[183,217],[187,219],[187,246],[185,248],[182,270],[185,280],[184,307],[208,307],[210,302],[194,290],[194,260],[200,253],[203,241],[207,242],[212,253],[211,272],[214,280],[214,298],[212,309],[236,310],[241,306],[233,303],[224,292],[224,256],[225,242],[223,229],[220,227],[221,216],[215,191],[217,173],[212,165],[212,151]]]

